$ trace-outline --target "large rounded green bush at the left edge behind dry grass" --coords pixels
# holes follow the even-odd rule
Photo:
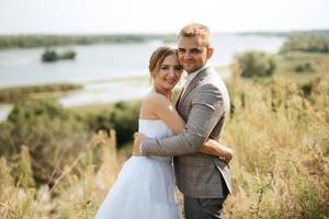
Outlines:
[[[29,148],[38,185],[52,183],[60,174],[64,161],[72,162],[88,138],[87,126],[52,101],[16,103],[8,120],[0,125],[0,153],[13,162],[22,146]]]

